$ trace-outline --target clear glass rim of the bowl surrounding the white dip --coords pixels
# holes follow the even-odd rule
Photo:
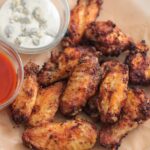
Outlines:
[[[3,6],[3,4],[6,1],[7,0],[2,0],[0,2],[0,8]],[[69,8],[68,0],[50,0],[50,1],[54,4],[54,6],[58,10],[58,13],[60,16],[60,27],[59,27],[57,34],[55,35],[54,40],[51,43],[47,44],[46,46],[36,47],[36,48],[26,48],[26,47],[17,46],[14,43],[9,43],[9,44],[13,45],[13,47],[15,47],[19,53],[39,54],[39,53],[43,53],[48,50],[52,50],[60,43],[60,41],[64,37],[64,35],[67,31],[68,25],[69,25],[69,20],[70,20],[70,8]],[[1,38],[4,41],[7,41],[6,38],[4,38],[4,37],[1,37]],[[9,42],[9,41],[7,41],[7,42]]]

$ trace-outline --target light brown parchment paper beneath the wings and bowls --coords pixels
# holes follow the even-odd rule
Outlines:
[[[76,0],[69,0],[69,3],[72,8]],[[144,39],[150,46],[150,0],[104,0],[99,19],[114,21],[135,41]],[[48,56],[49,52],[40,55],[21,55],[24,63],[33,60],[38,64],[42,64]],[[146,91],[147,94],[150,93],[150,88]],[[7,109],[0,112],[0,150],[27,150],[22,145],[22,131],[21,126],[17,127],[12,122]],[[96,146],[93,150],[104,149]],[[123,139],[119,150],[150,150],[150,120],[130,132]]]

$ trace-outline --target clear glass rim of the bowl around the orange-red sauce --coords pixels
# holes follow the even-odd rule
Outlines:
[[[13,47],[9,46],[4,41],[2,41],[1,39],[0,39],[0,53],[4,55],[12,64],[16,72],[16,80],[17,80],[14,91],[11,93],[8,99],[6,99],[3,103],[0,104],[0,110],[2,110],[6,108],[8,105],[10,105],[18,95],[23,83],[24,70],[21,58],[16,52],[16,50]]]

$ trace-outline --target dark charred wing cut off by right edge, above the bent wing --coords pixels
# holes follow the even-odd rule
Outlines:
[[[131,52],[125,63],[129,66],[129,79],[132,84],[150,84],[150,58],[146,52],[148,48],[144,43],[140,43]]]

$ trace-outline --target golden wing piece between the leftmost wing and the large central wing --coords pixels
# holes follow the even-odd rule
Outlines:
[[[29,118],[29,126],[35,127],[53,120],[59,107],[63,86],[63,82],[58,82],[39,90],[35,106]]]

